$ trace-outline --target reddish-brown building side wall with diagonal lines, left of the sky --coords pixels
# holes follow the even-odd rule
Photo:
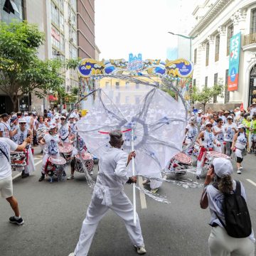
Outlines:
[[[95,0],[78,0],[78,57],[95,59]]]

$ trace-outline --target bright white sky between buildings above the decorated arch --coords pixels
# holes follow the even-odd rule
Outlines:
[[[95,41],[101,58],[166,59],[166,49],[177,45],[184,18],[195,0],[95,0]],[[181,4],[183,8],[181,11]]]

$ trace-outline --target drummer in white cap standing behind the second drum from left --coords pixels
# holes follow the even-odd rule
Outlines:
[[[38,181],[43,181],[46,178],[45,168],[46,162],[50,156],[59,156],[59,147],[60,139],[57,134],[57,129],[55,125],[50,125],[50,130],[47,134],[43,136],[41,139],[41,144],[45,144],[44,156],[43,156],[43,165],[41,170],[41,177]],[[63,176],[65,176],[65,171],[63,172]]]

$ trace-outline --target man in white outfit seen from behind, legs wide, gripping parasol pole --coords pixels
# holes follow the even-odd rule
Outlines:
[[[145,254],[142,230],[137,215],[137,224],[134,225],[133,206],[129,198],[124,193],[124,183],[136,183],[137,177],[127,176],[127,166],[135,152],[129,155],[122,151],[124,143],[122,132],[110,132],[110,145],[112,146],[107,154],[100,157],[99,174],[92,195],[92,201],[87,209],[87,215],[82,223],[80,238],[75,252],[70,256],[87,256],[97,225],[108,209],[117,213],[125,223],[129,238],[137,248],[139,255]]]

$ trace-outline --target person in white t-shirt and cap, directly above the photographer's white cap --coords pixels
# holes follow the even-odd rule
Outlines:
[[[230,156],[232,151],[231,151],[231,146],[233,142],[233,138],[236,132],[238,132],[238,126],[233,123],[233,117],[228,116],[227,118],[228,122],[224,125],[224,141],[225,141],[225,147],[224,151],[227,156]]]

